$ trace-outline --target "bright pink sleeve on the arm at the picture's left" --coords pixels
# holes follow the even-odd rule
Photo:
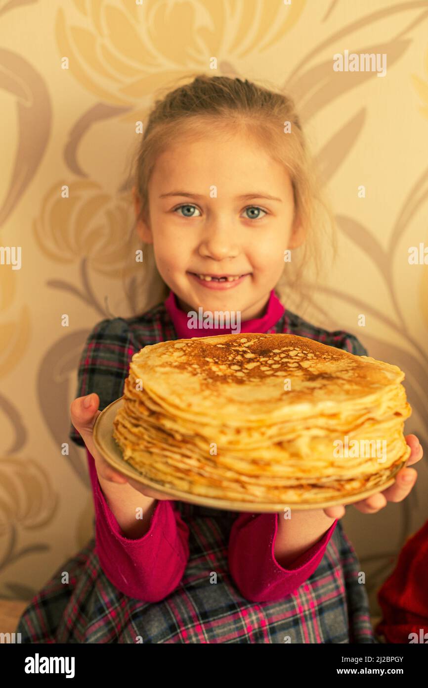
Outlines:
[[[87,449],[95,505],[95,545],[100,566],[115,587],[144,602],[164,599],[183,577],[189,557],[188,526],[174,502],[158,501],[146,535],[125,537],[102,493]]]

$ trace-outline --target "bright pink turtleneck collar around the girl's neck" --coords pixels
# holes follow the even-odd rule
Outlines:
[[[172,290],[170,290],[168,298],[165,301],[165,307],[174,323],[174,328],[179,339],[207,337],[212,334],[231,334],[232,332],[236,332],[236,330],[231,330],[227,327],[214,327],[214,329],[210,327],[206,330],[188,327],[188,314],[179,308],[177,297]],[[264,315],[262,315],[261,318],[253,318],[241,322],[240,332],[268,332],[275,323],[278,323],[278,320],[282,317],[282,314],[284,314],[284,310],[284,306],[276,296],[274,290],[272,290]],[[197,313],[198,311],[196,310],[196,314]]]

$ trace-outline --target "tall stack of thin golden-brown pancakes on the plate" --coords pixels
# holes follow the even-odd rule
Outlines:
[[[292,334],[166,341],[134,354],[113,437],[159,486],[316,505],[381,486],[408,458],[403,379]]]

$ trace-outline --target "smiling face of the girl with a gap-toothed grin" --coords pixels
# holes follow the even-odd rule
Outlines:
[[[177,141],[159,155],[148,202],[149,222],[137,230],[153,243],[159,274],[181,308],[240,311],[241,321],[262,316],[284,251],[304,241],[300,223],[293,227],[284,166],[242,134],[222,138],[207,129],[203,140]]]

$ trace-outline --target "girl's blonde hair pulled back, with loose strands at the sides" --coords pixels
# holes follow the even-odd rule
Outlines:
[[[193,78],[194,77],[194,78]],[[189,76],[185,77],[188,80]],[[304,270],[315,271],[315,288],[326,264],[326,246],[337,253],[335,219],[330,203],[322,193],[322,184],[315,160],[308,151],[295,104],[289,95],[275,92],[245,79],[228,76],[192,75],[190,83],[170,90],[163,89],[163,97],[155,101],[144,127],[144,135],[133,161],[133,186],[140,200],[140,215],[149,222],[148,182],[157,156],[172,140],[195,140],[205,136],[207,125],[215,125],[216,132],[227,136],[244,131],[262,144],[275,160],[286,166],[295,202],[295,215],[304,226],[303,246],[293,250],[291,262],[284,263],[282,277],[275,291],[285,305],[300,295]],[[176,82],[177,86],[177,82]],[[284,125],[290,131],[284,133]],[[133,232],[139,218],[135,219]],[[328,241],[323,241],[323,233]],[[144,244],[144,309],[166,298],[169,288],[161,279],[155,265],[153,245]],[[311,291],[311,288],[309,288]],[[307,294],[306,294],[307,295]]]

